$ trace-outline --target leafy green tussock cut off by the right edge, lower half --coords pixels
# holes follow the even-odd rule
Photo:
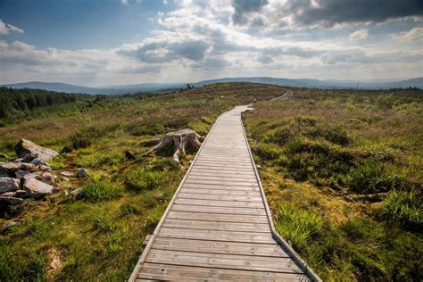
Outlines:
[[[423,227],[423,196],[415,190],[393,190],[380,208],[381,216],[389,223],[411,231],[421,231]]]

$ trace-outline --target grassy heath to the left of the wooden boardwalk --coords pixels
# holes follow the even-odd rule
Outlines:
[[[140,155],[149,149],[143,142],[178,129],[206,134],[221,112],[284,93],[274,86],[219,84],[61,105],[42,114],[37,109],[25,122],[21,116],[7,120],[0,128],[1,153],[12,156],[13,145],[25,137],[62,152],[49,162],[54,170],[85,167],[92,179],[61,180],[58,193],[26,201],[15,212],[18,223],[0,233],[0,281],[128,279],[193,155],[178,164],[166,153],[129,161],[125,151]],[[69,111],[61,113],[65,107]],[[82,200],[68,195],[79,187]],[[0,225],[9,220],[0,218]]]

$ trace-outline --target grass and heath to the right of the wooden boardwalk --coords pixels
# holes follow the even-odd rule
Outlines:
[[[294,89],[244,115],[278,232],[328,281],[423,273],[421,91]]]

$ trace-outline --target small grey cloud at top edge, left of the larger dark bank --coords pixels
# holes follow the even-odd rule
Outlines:
[[[232,0],[235,9],[232,21],[235,24],[245,24],[249,22],[248,16],[252,12],[260,12],[264,5],[269,4],[268,0]],[[260,19],[254,19],[253,25],[260,25]]]

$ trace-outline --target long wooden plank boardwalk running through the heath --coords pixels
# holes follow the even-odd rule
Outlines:
[[[319,281],[273,227],[245,110],[216,121],[129,281]]]

